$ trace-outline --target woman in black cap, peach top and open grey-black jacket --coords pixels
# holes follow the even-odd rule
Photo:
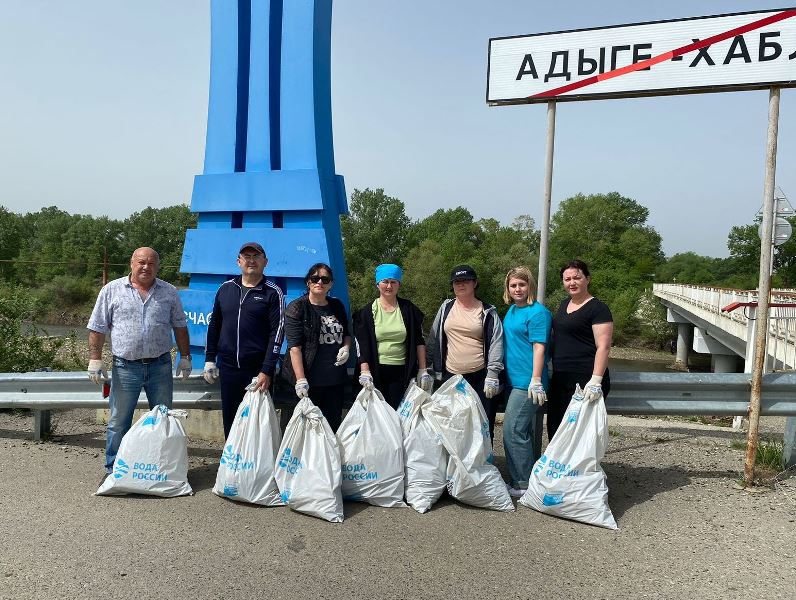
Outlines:
[[[495,307],[475,295],[478,276],[470,265],[451,271],[451,285],[455,297],[439,307],[427,346],[434,371],[443,380],[463,375],[478,393],[493,435],[503,370],[503,325]]]

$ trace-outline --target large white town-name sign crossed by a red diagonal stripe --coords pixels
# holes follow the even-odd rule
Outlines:
[[[489,40],[487,102],[796,86],[796,9]]]

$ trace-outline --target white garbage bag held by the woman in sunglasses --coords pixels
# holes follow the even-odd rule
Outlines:
[[[276,461],[282,501],[295,511],[343,521],[340,447],[321,410],[302,398],[285,428]]]

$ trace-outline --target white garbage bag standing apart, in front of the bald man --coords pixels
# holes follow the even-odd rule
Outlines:
[[[188,437],[180,421],[187,416],[163,404],[142,415],[122,438],[113,473],[96,495],[193,494],[188,484]]]

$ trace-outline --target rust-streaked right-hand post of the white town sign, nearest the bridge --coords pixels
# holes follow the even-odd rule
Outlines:
[[[768,312],[771,295],[771,251],[774,233],[774,178],[777,171],[777,131],[779,128],[779,88],[772,87],[768,97],[768,138],[766,140],[766,179],[763,185],[763,224],[760,240],[760,281],[757,287],[758,326],[755,328],[752,393],[749,400],[749,434],[746,443],[744,483],[753,485],[755,456],[760,431],[760,393],[766,363]]]

